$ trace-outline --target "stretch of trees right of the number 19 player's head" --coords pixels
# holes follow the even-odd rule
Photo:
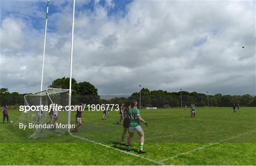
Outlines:
[[[132,93],[130,100],[139,100],[139,92]],[[240,106],[256,106],[256,96],[249,94],[245,95],[222,95],[220,93],[215,95],[208,95],[204,93],[197,93],[195,91],[178,91],[167,92],[163,90],[150,91],[147,88],[141,90],[141,107],[163,107],[169,105],[170,107],[181,107],[185,105],[190,106],[209,106],[210,107],[231,107],[233,103]]]

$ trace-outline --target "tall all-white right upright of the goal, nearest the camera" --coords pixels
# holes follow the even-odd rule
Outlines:
[[[73,36],[74,36],[74,9],[75,9],[75,0],[73,0],[73,19],[72,19],[72,33],[71,33],[71,54],[70,54],[70,76],[69,76],[69,98],[68,98],[68,125],[70,125],[70,114],[71,114],[71,85],[72,85],[72,60],[73,60]],[[68,132],[70,132],[70,129],[68,129]]]

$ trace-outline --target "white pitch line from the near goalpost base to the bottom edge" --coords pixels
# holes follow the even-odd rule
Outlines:
[[[126,154],[128,154],[128,155],[131,155],[131,156],[134,156],[134,157],[137,157],[137,158],[143,158],[143,159],[148,160],[148,161],[151,161],[151,162],[153,162],[153,163],[155,163],[155,164],[157,164],[157,165],[162,165],[162,166],[165,165],[165,163],[163,163],[163,162],[161,162],[161,161],[153,160],[153,159],[151,159],[151,158],[146,158],[146,157],[143,157],[143,156],[140,156],[140,155],[137,155],[137,154],[128,152],[128,151],[124,151],[124,150],[120,150],[120,149],[117,149],[117,148],[113,148],[113,147],[111,147],[111,146],[108,146],[108,145],[105,145],[105,144],[102,144],[102,143],[99,143],[99,142],[91,141],[91,140],[88,140],[88,139],[86,139],[86,138],[73,135],[72,133],[70,133],[70,135],[72,135],[73,137],[76,137],[76,138],[85,140],[85,141],[89,141],[89,142],[91,142],[91,143],[95,143],[95,144],[104,146],[104,147],[106,147],[106,148],[118,150],[118,151],[120,151],[120,152],[122,152],[122,153],[126,153]]]

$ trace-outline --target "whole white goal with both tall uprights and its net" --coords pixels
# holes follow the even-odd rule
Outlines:
[[[43,52],[43,66],[41,75],[41,91],[28,94],[24,96],[25,106],[48,106],[52,105],[62,106],[63,108],[69,106],[69,110],[53,111],[53,117],[48,115],[47,111],[39,109],[39,111],[22,112],[18,121],[15,123],[19,125],[54,125],[51,128],[36,128],[35,132],[30,136],[31,138],[61,135],[66,132],[70,132],[70,128],[57,128],[55,125],[70,125],[71,116],[71,94],[72,94],[72,61],[73,61],[73,33],[74,33],[74,12],[75,12],[75,0],[73,0],[73,20],[72,20],[72,34],[71,34],[71,55],[70,55],[70,80],[69,89],[56,89],[48,88],[46,91],[42,91],[43,88],[43,75],[44,75],[44,61],[45,61],[45,47],[46,47],[46,30],[47,30],[47,16],[48,16],[48,4],[47,0],[47,12],[46,12],[46,29],[44,40],[44,52]],[[55,109],[54,109],[55,110]]]

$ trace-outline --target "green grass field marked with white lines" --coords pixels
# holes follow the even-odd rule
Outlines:
[[[29,139],[30,130],[0,124],[0,165],[256,165],[256,108],[197,108],[194,118],[182,108],[140,112],[146,154],[137,153],[137,134],[130,152],[119,145],[119,112],[102,121],[101,112],[85,111],[73,136]],[[9,108],[10,120],[19,114]]]

